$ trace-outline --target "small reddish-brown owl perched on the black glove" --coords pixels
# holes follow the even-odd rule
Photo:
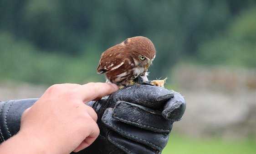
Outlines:
[[[140,76],[148,81],[148,67],[156,55],[154,44],[143,36],[127,38],[101,55],[97,73],[105,73],[107,83],[119,87],[134,84],[133,79]]]

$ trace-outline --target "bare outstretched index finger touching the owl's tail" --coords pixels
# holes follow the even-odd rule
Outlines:
[[[95,98],[107,96],[118,90],[118,86],[111,83],[87,83],[78,88],[78,95],[83,102],[92,101]]]

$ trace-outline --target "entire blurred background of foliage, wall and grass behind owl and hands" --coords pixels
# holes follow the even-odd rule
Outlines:
[[[187,101],[163,154],[256,154],[255,0],[0,0],[0,100],[104,82],[101,53],[139,35]]]

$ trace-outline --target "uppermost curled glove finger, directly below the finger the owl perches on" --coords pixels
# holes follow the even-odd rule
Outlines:
[[[173,124],[171,120],[164,119],[159,111],[125,101],[117,102],[112,116],[129,125],[163,134],[169,134]]]

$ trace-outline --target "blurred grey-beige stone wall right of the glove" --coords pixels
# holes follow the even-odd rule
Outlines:
[[[176,67],[187,108],[174,130],[193,136],[256,137],[256,70]]]

